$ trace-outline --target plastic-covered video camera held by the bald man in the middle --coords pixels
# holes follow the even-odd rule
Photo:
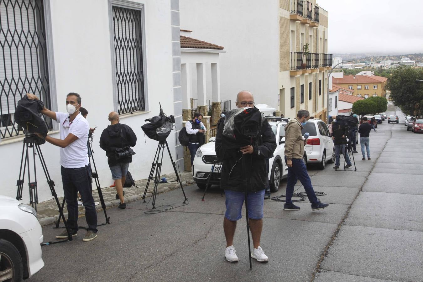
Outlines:
[[[226,112],[222,147],[230,149],[251,145],[260,136],[264,120],[266,117],[256,107]]]

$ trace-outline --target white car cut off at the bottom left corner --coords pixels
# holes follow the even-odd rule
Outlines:
[[[37,212],[18,200],[0,196],[0,281],[21,281],[43,268],[42,242]]]

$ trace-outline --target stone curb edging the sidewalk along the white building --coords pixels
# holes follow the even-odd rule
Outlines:
[[[182,181],[182,187],[184,186],[189,186],[195,184],[195,181],[193,180],[187,180],[187,181]],[[161,188],[157,188],[157,194],[161,194],[161,193],[165,193],[171,190],[175,190],[178,189],[179,185],[170,185],[169,187],[161,187]],[[152,194],[151,193],[147,193],[146,197],[150,197]],[[135,195],[131,195],[128,197],[125,197],[125,203],[130,203],[130,202],[135,202],[137,200],[142,199],[143,196],[141,194],[135,194]],[[112,200],[112,201],[104,201],[104,205],[106,206],[106,209],[108,208],[113,208],[113,207],[117,207],[119,204],[121,203],[120,200]],[[102,211],[103,208],[101,205],[96,205],[96,212]],[[63,215],[65,216],[65,218],[68,217],[68,213],[63,213]],[[85,215],[85,210],[83,210],[82,212],[78,212],[78,217],[80,217],[81,215]],[[59,218],[59,215],[56,214],[55,216],[49,216],[46,218],[42,218],[42,219],[38,219],[38,222],[41,226],[45,226],[45,225],[50,225],[52,223],[57,222]]]

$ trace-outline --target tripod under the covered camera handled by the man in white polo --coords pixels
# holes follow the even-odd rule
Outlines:
[[[19,170],[19,179],[16,183],[18,186],[17,193],[16,193],[16,200],[22,200],[22,190],[23,190],[23,184],[25,179],[25,170],[27,168],[28,170],[28,184],[29,184],[29,197],[30,197],[30,204],[32,207],[37,210],[37,204],[38,204],[38,191],[37,191],[37,171],[36,171],[36,164],[35,164],[35,156],[38,154],[38,158],[41,162],[41,167],[43,168],[44,175],[47,179],[47,184],[49,185],[50,192],[52,193],[52,196],[55,198],[58,209],[59,209],[59,220],[60,218],[63,219],[63,223],[65,225],[65,228],[67,230],[67,224],[65,216],[63,215],[63,207],[60,206],[59,199],[57,197],[56,191],[54,189],[54,181],[51,180],[50,174],[47,170],[46,162],[44,161],[43,153],[41,152],[40,144],[39,144],[39,138],[33,134],[33,133],[25,133],[24,138],[24,144],[22,148],[22,158],[21,158],[21,167]],[[26,150],[25,150],[26,148]],[[32,155],[33,155],[33,168],[34,168],[34,182],[31,182],[31,175],[30,175],[30,156],[29,151],[30,148],[32,148]],[[24,161],[25,156],[25,161]],[[23,171],[22,171],[23,169]],[[21,178],[22,176],[22,178]],[[56,244],[66,241],[72,241],[72,235],[71,233],[68,233],[68,239],[62,240],[62,241],[56,241],[56,242],[49,242],[47,244]]]

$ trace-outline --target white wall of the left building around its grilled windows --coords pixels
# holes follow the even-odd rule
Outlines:
[[[146,42],[143,42],[143,48],[146,52],[147,65],[145,70],[146,107],[151,112],[121,116],[120,120],[121,123],[129,125],[137,134],[137,145],[134,148],[136,154],[133,156],[129,170],[135,179],[142,179],[148,177],[158,142],[145,137],[141,125],[145,123],[144,119],[159,113],[159,102],[162,103],[166,114],[174,114],[171,1],[134,0],[132,2],[145,4]],[[56,93],[51,93],[52,99],[57,100],[60,112],[66,112],[66,94],[76,92],[81,95],[82,107],[89,112],[87,119],[90,126],[98,126],[93,138],[93,151],[100,183],[102,187],[109,186],[113,180],[107,165],[107,157],[99,148],[102,130],[110,124],[107,115],[116,110],[113,105],[112,76],[114,74],[112,73],[108,1],[51,1],[50,5],[57,90]],[[52,137],[58,138],[59,135],[55,133]],[[173,132],[168,137],[168,142],[173,158],[176,159],[175,149],[172,146],[175,144]],[[59,148],[46,143],[41,145],[41,150],[51,178],[55,181],[56,192],[59,196],[63,196]],[[22,137],[18,140],[2,140],[0,143],[2,156],[0,194],[2,195],[16,197],[16,180],[19,176],[21,153]],[[164,160],[162,173],[173,171],[168,156],[165,156]],[[38,161],[37,171],[38,199],[48,200],[52,196]],[[26,177],[23,189],[24,203],[29,201],[27,183]]]

